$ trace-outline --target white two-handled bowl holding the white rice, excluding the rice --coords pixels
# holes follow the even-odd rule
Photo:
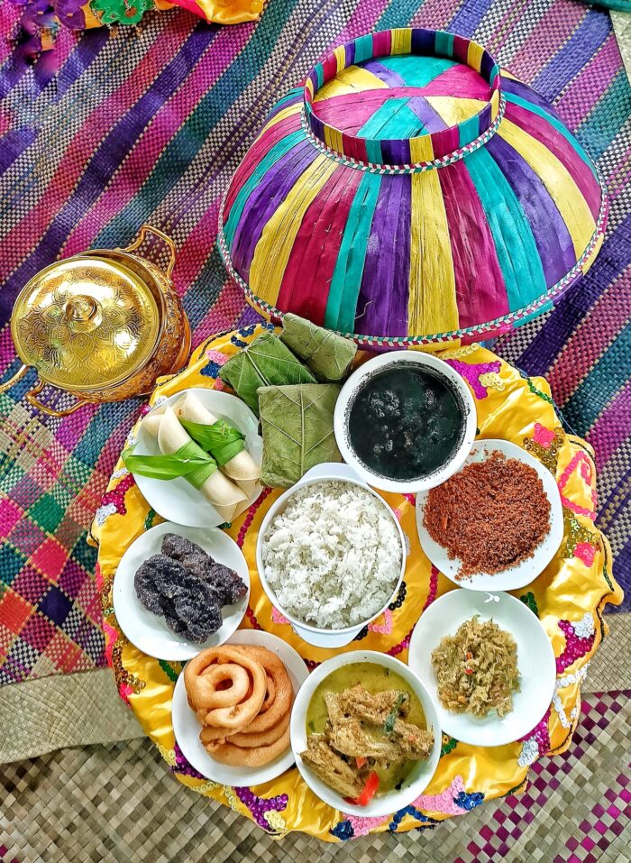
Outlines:
[[[287,609],[280,604],[276,593],[265,577],[265,565],[263,564],[263,544],[265,542],[265,534],[270,525],[271,519],[273,519],[278,512],[285,509],[289,498],[295,494],[298,489],[301,489],[306,485],[314,485],[316,482],[327,481],[348,482],[351,485],[358,485],[362,489],[370,491],[370,494],[372,494],[376,500],[379,500],[380,504],[388,510],[392,521],[397,526],[398,536],[401,541],[401,572],[399,573],[398,581],[394,590],[390,594],[388,601],[380,609],[375,611],[374,614],[370,615],[370,618],[367,618],[367,620],[362,620],[361,623],[356,623],[352,627],[345,627],[344,629],[320,629],[306,623],[304,620],[299,620],[294,617],[291,612],[287,611]],[[355,638],[357,633],[360,632],[367,623],[370,623],[370,620],[378,618],[380,614],[388,608],[390,602],[397,596],[398,589],[403,580],[403,575],[406,571],[406,540],[403,536],[401,526],[398,523],[397,516],[390,509],[386,501],[383,500],[383,498],[381,498],[375,491],[372,491],[367,483],[361,480],[351,467],[347,464],[318,464],[316,467],[311,468],[310,471],[307,471],[296,485],[292,486],[284,494],[281,494],[279,499],[272,504],[270,510],[266,513],[265,518],[262,520],[261,528],[259,529],[259,537],[256,543],[256,566],[259,571],[262,588],[267,593],[270,602],[289,620],[300,638],[308,642],[308,644],[313,644],[316,647],[342,647],[345,644],[349,644],[352,639]],[[288,577],[291,577],[290,573],[288,574]]]

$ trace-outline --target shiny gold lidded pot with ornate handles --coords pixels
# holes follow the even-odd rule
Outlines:
[[[164,270],[135,253],[148,234],[166,244]],[[11,334],[23,366],[7,390],[30,369],[39,381],[25,398],[52,416],[88,402],[128,399],[150,392],[156,379],[178,372],[190,353],[190,327],[171,273],[175,243],[142,225],[124,249],[94,249],[50,264],[15,301]],[[57,410],[37,396],[45,384],[78,401]]]

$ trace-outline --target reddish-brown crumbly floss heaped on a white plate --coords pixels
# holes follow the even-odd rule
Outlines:
[[[458,558],[458,577],[494,574],[532,557],[550,527],[550,501],[535,469],[493,453],[429,491],[425,528]]]

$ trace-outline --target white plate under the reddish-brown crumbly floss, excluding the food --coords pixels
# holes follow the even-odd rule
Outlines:
[[[502,570],[494,575],[479,573],[458,579],[456,575],[461,568],[461,561],[457,557],[450,559],[447,549],[434,542],[434,539],[430,537],[423,524],[425,503],[429,493],[427,491],[416,495],[416,528],[418,529],[418,538],[425,555],[429,557],[430,561],[441,573],[446,575],[447,578],[451,578],[459,587],[464,587],[471,591],[516,591],[518,588],[530,584],[535,580],[537,575],[543,573],[545,567],[559,550],[563,538],[561,495],[553,474],[544,467],[544,464],[536,459],[534,455],[522,449],[521,446],[512,444],[508,440],[475,441],[471,447],[471,454],[469,454],[463,466],[473,464],[474,462],[483,462],[492,453],[503,453],[507,458],[516,458],[518,461],[535,468],[539,479],[544,484],[544,492],[550,501],[550,528],[544,540],[535,548],[535,554],[532,557],[523,560],[517,566],[511,566],[509,569]],[[471,500],[471,506],[475,506],[474,500]]]

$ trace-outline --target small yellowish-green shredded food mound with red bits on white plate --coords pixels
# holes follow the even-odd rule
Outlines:
[[[438,698],[446,710],[506,716],[519,692],[517,644],[492,620],[465,620],[453,636],[432,651]]]

